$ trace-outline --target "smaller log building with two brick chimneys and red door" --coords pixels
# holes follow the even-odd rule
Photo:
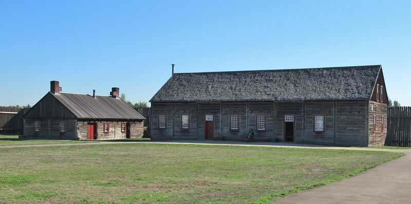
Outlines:
[[[24,138],[121,139],[142,137],[144,117],[119,97],[63,93],[59,81],[23,115]]]

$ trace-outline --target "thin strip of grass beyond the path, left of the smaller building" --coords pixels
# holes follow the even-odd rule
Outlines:
[[[0,135],[0,146],[2,145],[43,145],[43,144],[67,144],[84,141],[57,140],[57,139],[18,139],[18,135]]]

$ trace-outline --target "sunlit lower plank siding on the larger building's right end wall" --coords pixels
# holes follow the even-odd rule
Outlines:
[[[387,105],[375,101],[368,103],[368,146],[384,146],[387,137]],[[376,115],[376,131],[373,131]],[[384,129],[381,132],[381,120],[384,117]]]

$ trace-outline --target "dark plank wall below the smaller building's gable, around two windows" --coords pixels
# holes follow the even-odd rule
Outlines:
[[[34,131],[34,121],[40,122],[40,131]],[[60,132],[60,122],[66,123],[66,132]],[[76,119],[24,119],[23,138],[35,139],[78,139]]]

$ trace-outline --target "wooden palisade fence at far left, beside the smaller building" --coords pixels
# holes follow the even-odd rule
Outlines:
[[[23,115],[29,110],[29,108],[17,108],[17,107],[0,107],[0,112],[16,112],[0,113],[0,133],[1,134],[17,134],[23,132]]]

